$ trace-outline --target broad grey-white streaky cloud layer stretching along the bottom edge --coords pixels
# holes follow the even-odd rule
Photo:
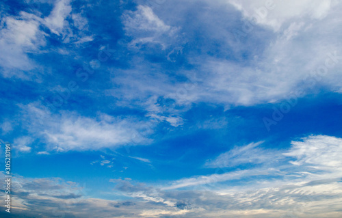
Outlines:
[[[240,150],[252,152],[255,144],[251,145]],[[237,153],[236,150],[231,152]],[[254,163],[261,165],[174,181],[172,187],[145,185],[129,178],[110,180],[115,184],[114,193],[119,191],[129,197],[124,201],[89,198],[87,194],[92,190],[59,178],[16,177],[14,203],[16,210],[22,213],[29,210],[27,215],[32,216],[38,210],[29,208],[39,205],[39,213],[43,206],[46,216],[87,217],[97,211],[101,217],[109,213],[115,214],[114,217],[339,217],[342,172],[335,166],[340,164],[341,155],[342,139],[317,135],[292,141],[291,148],[278,155],[272,168],[267,159],[264,163],[254,159]],[[220,168],[221,159],[219,156],[215,160]],[[242,163],[239,159],[231,157],[233,163]],[[235,182],[229,185],[228,181]],[[168,191],[181,187],[190,188]],[[55,214],[48,212],[53,208],[58,208],[53,210]]]

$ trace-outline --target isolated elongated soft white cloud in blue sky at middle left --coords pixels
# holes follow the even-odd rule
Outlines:
[[[51,114],[38,104],[22,107],[29,132],[45,139],[49,150],[98,150],[150,143],[142,128],[146,123],[137,118],[116,118],[106,114],[87,118],[66,111]]]

